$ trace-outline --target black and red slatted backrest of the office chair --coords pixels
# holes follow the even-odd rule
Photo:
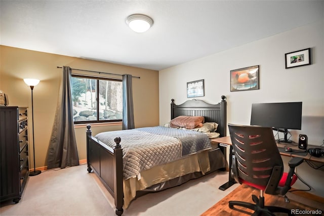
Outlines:
[[[235,152],[235,171],[238,177],[263,187],[272,181],[271,184],[275,188],[284,165],[272,128],[232,124],[228,124],[228,128]],[[275,177],[273,173],[276,173]]]

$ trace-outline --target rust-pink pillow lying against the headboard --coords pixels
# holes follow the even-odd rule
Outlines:
[[[205,117],[203,116],[178,116],[171,120],[170,127],[185,127],[187,129],[194,129],[197,127],[202,127],[205,122]]]

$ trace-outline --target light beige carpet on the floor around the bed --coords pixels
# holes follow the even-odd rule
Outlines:
[[[221,200],[228,172],[216,171],[181,186],[134,200],[123,215],[200,215]],[[19,203],[1,203],[1,215],[115,215],[114,201],[86,165],[50,169],[30,176]]]

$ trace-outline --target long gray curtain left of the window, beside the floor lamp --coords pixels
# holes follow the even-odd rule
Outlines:
[[[63,78],[47,155],[48,169],[79,165],[73,127],[71,68],[63,66]]]

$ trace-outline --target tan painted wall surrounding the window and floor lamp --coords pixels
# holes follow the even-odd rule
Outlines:
[[[6,46],[0,46],[0,60],[0,89],[8,94],[11,106],[28,106],[31,114],[31,91],[23,79],[41,80],[33,90],[36,168],[47,165],[47,150],[62,77],[62,68],[57,66],[141,77],[133,79],[135,127],[156,126],[159,123],[158,71]],[[32,122],[31,115],[28,121]],[[31,124],[28,129],[30,168],[33,168]],[[119,129],[120,124],[93,127],[92,131],[97,134]],[[75,128],[80,160],[87,157],[85,131],[85,126]]]

